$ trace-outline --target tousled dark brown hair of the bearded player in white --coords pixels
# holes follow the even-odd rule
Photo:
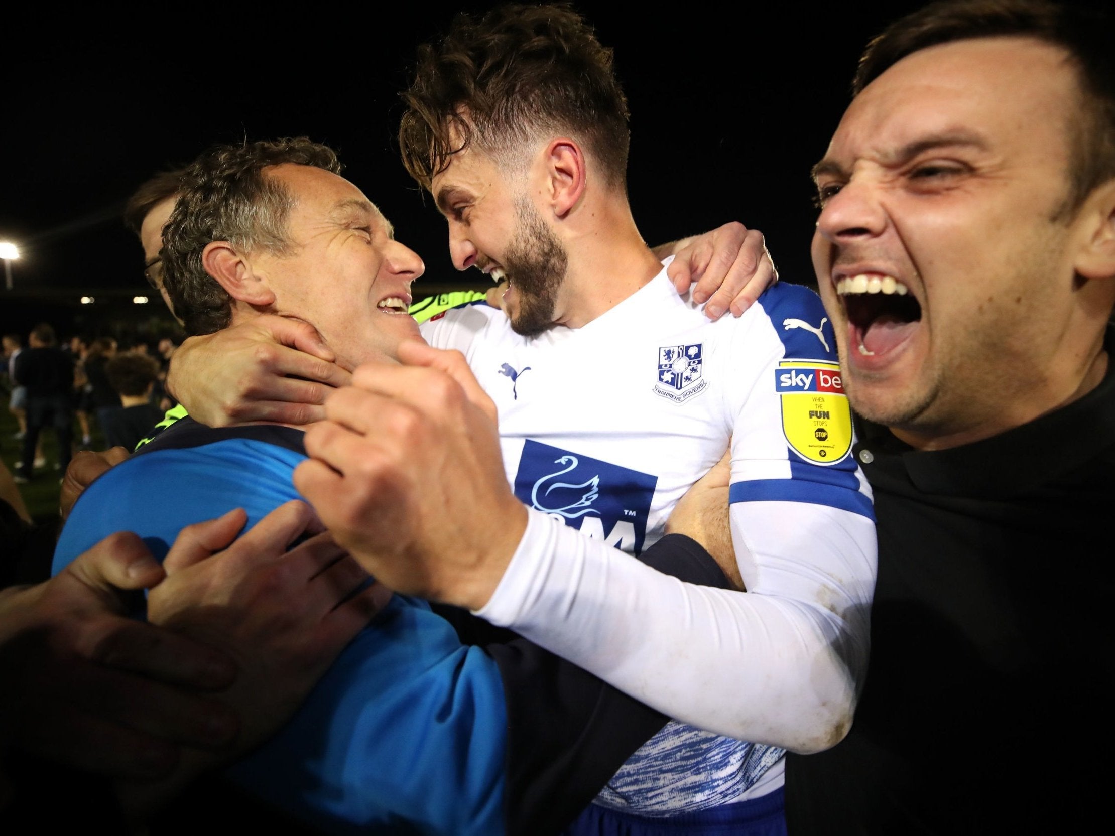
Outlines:
[[[626,183],[628,107],[612,50],[564,3],[458,14],[418,48],[401,97],[403,164],[424,188],[469,144],[498,156],[540,130],[572,134],[610,183]]]

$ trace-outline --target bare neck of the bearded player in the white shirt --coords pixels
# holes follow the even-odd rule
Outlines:
[[[638,291],[662,270],[622,194],[585,200],[568,218],[569,271],[558,324],[581,328]]]

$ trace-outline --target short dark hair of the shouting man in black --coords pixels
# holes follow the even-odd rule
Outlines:
[[[1080,106],[1070,126],[1070,192],[1063,212],[1115,177],[1115,31],[1112,16],[1047,0],[940,0],[891,23],[860,59],[852,84],[864,87],[908,55],[938,43],[1016,36],[1064,49],[1077,71]]]

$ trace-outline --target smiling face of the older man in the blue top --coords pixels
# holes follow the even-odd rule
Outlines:
[[[407,308],[421,259],[395,241],[387,218],[343,177],[293,164],[265,174],[294,198],[289,252],[252,257],[274,294],[270,311],[312,324],[348,368],[395,359],[403,340],[419,339]]]

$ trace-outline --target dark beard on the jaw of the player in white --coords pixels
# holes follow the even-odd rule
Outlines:
[[[515,333],[534,337],[554,324],[558,291],[565,281],[569,255],[525,197],[515,203],[515,237],[503,255],[518,310],[511,318]]]

